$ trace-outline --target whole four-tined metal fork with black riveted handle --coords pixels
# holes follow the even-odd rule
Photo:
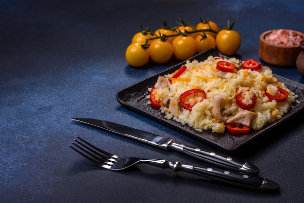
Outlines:
[[[79,136],[77,136],[77,138],[78,139],[74,139],[74,142],[72,142],[72,145],[69,147],[104,169],[119,171],[128,169],[137,164],[149,164],[162,169],[171,169],[175,172],[184,171],[212,180],[262,191],[276,191],[280,189],[279,184],[258,175],[251,175],[228,169],[202,168],[185,165],[179,161],[169,162],[166,159],[118,156],[101,150]]]

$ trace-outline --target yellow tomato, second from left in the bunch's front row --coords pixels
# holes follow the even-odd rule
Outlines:
[[[164,64],[172,57],[173,48],[170,42],[155,39],[149,46],[149,52],[152,61],[158,64]]]

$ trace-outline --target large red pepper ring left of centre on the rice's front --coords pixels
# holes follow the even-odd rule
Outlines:
[[[205,91],[203,91],[202,89],[190,89],[180,95],[180,101],[185,109],[192,111],[192,107],[194,106],[194,104],[200,102],[199,100],[197,100],[199,97],[205,99]],[[194,100],[193,104],[191,104],[191,102],[189,101],[192,99]]]

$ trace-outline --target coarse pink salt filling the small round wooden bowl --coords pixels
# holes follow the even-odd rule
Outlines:
[[[265,40],[270,44],[291,47],[299,45],[303,35],[292,30],[277,30],[265,35]]]

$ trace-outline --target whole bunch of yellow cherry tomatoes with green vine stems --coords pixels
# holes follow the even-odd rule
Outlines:
[[[126,61],[133,67],[141,67],[149,59],[157,64],[168,62],[174,55],[176,59],[184,61],[196,53],[217,48],[224,55],[233,55],[239,49],[241,37],[232,30],[234,23],[226,25],[225,29],[209,20],[203,20],[196,27],[185,23],[179,18],[180,25],[173,28],[163,21],[163,27],[152,32],[148,27],[136,33],[125,52]]]

